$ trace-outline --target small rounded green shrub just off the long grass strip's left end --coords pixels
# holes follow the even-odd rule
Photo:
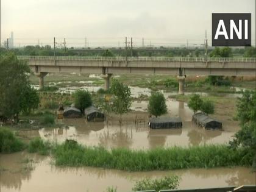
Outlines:
[[[28,151],[30,153],[38,152],[41,155],[48,155],[51,144],[47,141],[43,141],[40,137],[34,138],[29,142]]]

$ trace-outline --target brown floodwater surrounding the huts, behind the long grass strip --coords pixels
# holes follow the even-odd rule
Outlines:
[[[105,146],[107,148],[126,147],[131,149],[151,149],[157,146],[196,146],[199,144],[228,143],[239,129],[238,124],[223,121],[224,130],[204,130],[191,122],[193,112],[184,102],[167,99],[168,115],[182,118],[182,129],[148,129],[148,102],[135,101],[130,112],[123,116],[119,125],[118,116],[110,116],[108,123],[87,123],[85,118],[65,119],[66,129],[43,128],[40,130],[20,131],[20,135],[41,137],[45,140],[65,141],[73,139],[87,146]],[[143,119],[135,124],[135,116]],[[229,127],[232,127],[229,130]]]

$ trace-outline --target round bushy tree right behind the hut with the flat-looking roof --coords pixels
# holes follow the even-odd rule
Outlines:
[[[148,111],[150,114],[160,116],[167,113],[165,96],[161,92],[154,92],[149,97]]]

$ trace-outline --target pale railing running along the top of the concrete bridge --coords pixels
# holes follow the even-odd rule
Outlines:
[[[54,60],[54,56],[26,56],[19,55],[18,59],[23,60]],[[57,56],[55,60],[85,60],[85,61],[135,61],[135,62],[205,62],[204,57],[80,57],[80,56]],[[218,58],[210,57],[208,62],[256,62],[255,58]]]

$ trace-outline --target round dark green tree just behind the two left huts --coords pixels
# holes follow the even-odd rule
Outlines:
[[[87,90],[77,90],[74,94],[74,104],[84,112],[85,108],[90,107],[93,102],[91,101],[91,93]]]

